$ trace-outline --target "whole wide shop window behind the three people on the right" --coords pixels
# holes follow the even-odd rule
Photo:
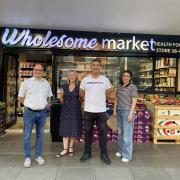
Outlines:
[[[79,81],[91,71],[91,56],[58,56],[57,57],[57,84],[61,87],[67,82],[67,73],[70,69],[76,70]],[[113,88],[120,82],[120,75],[125,69],[133,72],[133,83],[139,90],[152,90],[151,58],[142,57],[97,57],[101,60],[102,74],[111,81]]]

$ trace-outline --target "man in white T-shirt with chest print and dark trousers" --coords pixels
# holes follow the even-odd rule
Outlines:
[[[85,101],[85,152],[80,161],[84,162],[91,158],[92,133],[94,122],[99,130],[99,145],[101,160],[111,164],[107,153],[107,117],[106,97],[110,94],[111,84],[109,79],[101,75],[101,63],[98,59],[91,62],[91,74],[85,77],[80,84],[80,96]]]

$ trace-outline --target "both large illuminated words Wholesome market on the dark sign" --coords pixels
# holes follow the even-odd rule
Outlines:
[[[10,30],[6,28],[2,34],[2,44],[13,47],[34,47],[34,48],[62,48],[62,49],[89,49],[96,50],[132,50],[132,51],[155,51],[155,41],[138,40],[136,36],[130,39],[101,39],[69,37],[66,34],[60,36],[52,35],[47,31],[46,35],[32,34],[29,29]]]

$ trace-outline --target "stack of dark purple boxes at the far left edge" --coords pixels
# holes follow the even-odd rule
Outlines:
[[[0,136],[5,133],[5,104],[0,102]]]

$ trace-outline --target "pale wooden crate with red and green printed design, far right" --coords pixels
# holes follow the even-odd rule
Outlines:
[[[180,144],[180,106],[147,105],[152,117],[154,144]]]

